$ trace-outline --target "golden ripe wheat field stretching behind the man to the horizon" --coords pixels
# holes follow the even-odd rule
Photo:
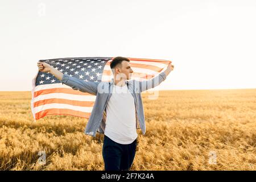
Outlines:
[[[137,130],[131,170],[255,170],[256,89],[149,96],[142,94],[146,134]],[[103,136],[84,134],[88,119],[49,115],[34,122],[30,101],[31,92],[0,92],[1,170],[104,170]]]

